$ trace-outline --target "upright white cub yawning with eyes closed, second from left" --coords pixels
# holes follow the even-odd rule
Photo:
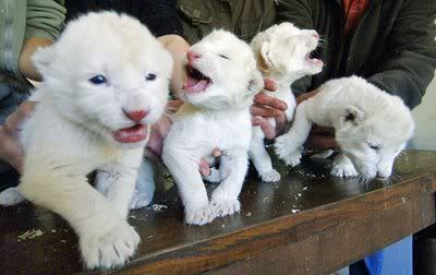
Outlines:
[[[213,32],[186,56],[185,104],[175,113],[162,159],[178,184],[185,222],[204,225],[240,211],[252,136],[250,106],[264,81],[250,46],[225,31]],[[214,148],[222,152],[222,182],[209,203],[198,164]]]

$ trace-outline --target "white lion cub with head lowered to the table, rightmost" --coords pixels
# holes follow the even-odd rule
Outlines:
[[[329,81],[298,106],[291,130],[275,144],[288,165],[300,163],[299,147],[313,123],[335,128],[341,153],[334,159],[331,174],[348,177],[359,171],[365,181],[390,176],[396,156],[414,130],[411,112],[400,97],[358,76]]]

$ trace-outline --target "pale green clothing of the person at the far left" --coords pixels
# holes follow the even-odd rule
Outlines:
[[[28,95],[31,85],[19,68],[24,39],[55,40],[65,12],[63,0],[0,1],[0,123]]]

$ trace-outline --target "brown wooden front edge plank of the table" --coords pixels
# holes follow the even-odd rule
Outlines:
[[[334,272],[433,224],[434,207],[423,215],[423,206],[435,200],[424,182],[428,178],[284,216],[153,256],[121,273]]]

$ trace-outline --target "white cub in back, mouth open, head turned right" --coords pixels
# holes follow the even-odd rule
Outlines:
[[[292,121],[295,108],[291,84],[305,75],[319,73],[323,69],[323,61],[310,58],[310,52],[316,49],[318,40],[319,36],[313,29],[299,29],[291,23],[281,23],[257,34],[251,43],[257,57],[257,67],[265,76],[278,84],[276,92],[265,93],[288,105],[288,121]],[[269,119],[272,125],[275,122]],[[279,181],[280,174],[272,168],[264,139],[261,127],[253,127],[250,157],[263,181]]]

